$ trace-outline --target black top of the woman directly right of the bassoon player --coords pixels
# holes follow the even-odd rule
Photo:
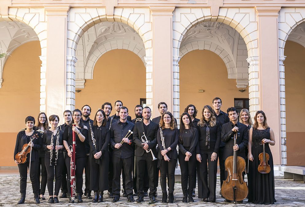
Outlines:
[[[99,132],[99,130],[100,130],[100,132]],[[93,136],[96,140],[95,141],[96,147],[94,147],[94,145],[93,145],[91,131],[89,131],[89,137],[88,137],[88,142],[90,145],[90,155],[89,156],[90,156],[90,158],[92,158],[92,157],[94,158],[93,155],[95,155],[97,152],[101,151],[102,156],[100,157],[99,160],[96,160],[99,162],[103,158],[103,155],[105,153],[108,153],[108,145],[110,142],[110,130],[106,126],[101,126],[99,129],[97,126],[92,125],[92,132],[93,132]]]

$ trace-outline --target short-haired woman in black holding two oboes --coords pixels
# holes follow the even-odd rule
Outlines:
[[[61,174],[64,167],[63,132],[57,128],[59,117],[49,117],[51,128],[42,136],[42,148],[45,150],[45,167],[47,169],[47,186],[49,191],[48,203],[58,203],[58,193],[61,187]],[[55,173],[54,173],[55,172]],[[55,190],[53,197],[53,180],[55,176]]]

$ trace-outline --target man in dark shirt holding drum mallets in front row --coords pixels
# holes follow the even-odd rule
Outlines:
[[[122,106],[119,111],[120,120],[110,127],[110,143],[113,149],[113,182],[112,182],[112,202],[117,202],[120,198],[120,181],[122,169],[126,178],[126,194],[129,202],[134,202],[133,198],[133,181],[132,181],[132,134],[134,124],[127,120],[128,109]],[[128,135],[127,135],[128,134]],[[123,141],[123,142],[122,142]],[[120,144],[122,143],[122,144]]]

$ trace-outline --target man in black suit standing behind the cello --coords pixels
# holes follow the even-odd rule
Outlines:
[[[247,126],[238,122],[238,112],[234,107],[230,107],[227,110],[230,122],[221,126],[221,140],[225,143],[223,160],[226,160],[229,156],[233,156],[233,152],[236,151],[237,156],[245,159],[245,148],[248,144],[248,130]],[[237,133],[236,144],[234,145],[234,134]],[[237,163],[238,164],[238,163]],[[228,176],[228,172],[225,171],[225,180]],[[244,175],[243,175],[244,177]],[[225,199],[225,202],[231,202]],[[241,201],[242,202],[242,201]]]

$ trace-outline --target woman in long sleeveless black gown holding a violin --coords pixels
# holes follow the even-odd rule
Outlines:
[[[275,145],[273,130],[267,124],[263,111],[255,114],[253,127],[249,130],[248,154],[248,202],[274,204],[273,159],[269,145]],[[265,155],[265,156],[264,156]]]

